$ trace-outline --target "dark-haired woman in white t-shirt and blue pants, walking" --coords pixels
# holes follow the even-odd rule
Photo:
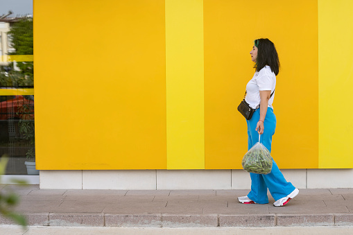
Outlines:
[[[275,45],[267,38],[255,40],[251,60],[255,62],[255,74],[246,85],[246,102],[257,110],[248,124],[248,149],[259,141],[271,151],[272,136],[275,134],[276,116],[273,113],[273,99],[275,98],[276,76],[279,72],[279,59]],[[258,108],[259,107],[259,108]],[[299,190],[293,184],[286,182],[275,161],[272,171],[268,175],[250,173],[251,191],[248,195],[239,197],[244,204],[268,203],[267,189],[275,199],[275,207],[284,206],[298,195]]]

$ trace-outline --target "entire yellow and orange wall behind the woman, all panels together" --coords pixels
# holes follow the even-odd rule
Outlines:
[[[352,147],[339,145],[352,131],[329,112],[341,83],[350,87],[353,49],[336,42],[351,42],[353,27],[336,26],[352,22],[342,14],[351,7],[349,0],[35,0],[37,168],[241,168],[248,145],[236,106],[259,37],[275,43],[282,63],[273,104],[279,167],[353,167]],[[348,105],[346,94],[337,108]]]

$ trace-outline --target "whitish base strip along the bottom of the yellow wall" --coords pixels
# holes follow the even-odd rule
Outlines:
[[[353,188],[353,169],[284,169],[298,189]],[[250,189],[243,170],[40,171],[41,189]]]

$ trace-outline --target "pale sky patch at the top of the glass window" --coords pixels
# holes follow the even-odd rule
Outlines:
[[[33,15],[33,0],[0,0],[0,16],[7,14],[9,10],[13,12],[9,17]]]

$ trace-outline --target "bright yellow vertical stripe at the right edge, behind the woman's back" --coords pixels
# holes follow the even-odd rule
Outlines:
[[[319,168],[353,168],[353,1],[318,0]]]

